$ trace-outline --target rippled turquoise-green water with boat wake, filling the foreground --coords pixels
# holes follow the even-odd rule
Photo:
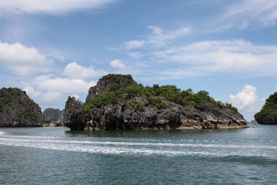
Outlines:
[[[277,125],[255,126],[0,128],[0,184],[277,184]]]

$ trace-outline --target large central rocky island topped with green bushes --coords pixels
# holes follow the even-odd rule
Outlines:
[[[100,78],[85,103],[68,97],[64,112],[63,124],[71,130],[248,127],[237,108],[214,100],[207,91],[143,86],[121,74]]]

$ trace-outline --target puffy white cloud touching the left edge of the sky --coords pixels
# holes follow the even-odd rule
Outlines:
[[[27,75],[54,71],[53,64],[51,59],[47,59],[34,47],[27,47],[19,42],[8,44],[0,41],[0,65],[11,73]]]

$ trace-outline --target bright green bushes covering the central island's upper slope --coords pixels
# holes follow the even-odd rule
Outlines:
[[[113,78],[116,77],[116,75],[113,74],[109,77]],[[130,79],[132,79],[132,77],[130,77]],[[204,103],[209,104],[210,107],[224,106],[237,112],[237,108],[233,107],[231,103],[215,101],[214,98],[209,96],[209,92],[204,90],[194,93],[190,88],[181,91],[181,89],[177,88],[175,85],[159,86],[159,84],[154,84],[150,87],[148,85],[143,86],[143,84],[138,84],[123,88],[119,84],[110,84],[109,88],[106,89],[104,93],[95,95],[92,99],[89,99],[85,103],[86,117],[90,117],[89,111],[93,108],[100,108],[108,103],[114,104],[115,101],[126,101],[124,93],[130,94],[131,98],[139,95],[145,95],[144,98],[147,99],[148,103],[151,106],[155,106],[157,109],[166,109],[171,107],[169,104],[164,103],[160,98],[164,97],[166,100],[182,106],[184,106],[187,101],[190,101],[190,106],[193,106],[194,108],[198,108],[199,104]],[[128,104],[133,108],[133,111],[144,111],[144,105],[142,103],[138,103],[131,99],[128,101]]]

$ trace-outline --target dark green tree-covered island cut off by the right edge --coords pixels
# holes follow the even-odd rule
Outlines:
[[[257,123],[265,125],[276,125],[277,122],[277,92],[274,92],[274,94],[270,95],[265,100],[265,105],[261,109],[260,112],[257,112],[254,115],[255,120]]]

